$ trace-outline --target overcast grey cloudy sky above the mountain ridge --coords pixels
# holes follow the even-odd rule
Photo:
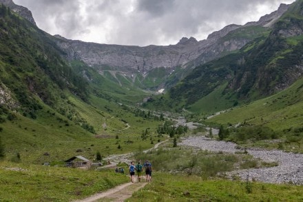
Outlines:
[[[67,39],[169,45],[182,37],[206,39],[231,23],[258,21],[294,0],[13,0],[36,24]]]

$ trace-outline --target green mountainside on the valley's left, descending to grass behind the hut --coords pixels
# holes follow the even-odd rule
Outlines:
[[[6,159],[56,162],[149,148],[155,117],[136,116],[146,94],[121,75],[67,62],[50,34],[0,5],[0,134]],[[123,81],[123,83],[121,83]],[[140,123],[140,124],[138,124]],[[149,130],[149,139],[141,139]],[[127,129],[127,130],[125,130]],[[3,145],[3,147],[2,147]],[[132,147],[130,147],[132,146]]]

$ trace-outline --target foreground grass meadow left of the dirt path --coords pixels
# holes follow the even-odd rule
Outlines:
[[[0,161],[0,201],[73,201],[129,181],[112,170]]]

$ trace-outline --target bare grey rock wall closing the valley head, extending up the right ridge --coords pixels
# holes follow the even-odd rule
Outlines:
[[[57,37],[57,44],[67,53],[67,59],[82,60],[88,65],[100,68],[103,65],[125,73],[149,72],[153,68],[175,68],[177,66],[199,65],[229,52],[242,48],[252,39],[227,39],[224,36],[233,30],[249,26],[269,26],[278,19],[289,6],[282,4],[280,8],[260,18],[258,22],[244,26],[229,25],[209,34],[206,40],[197,41],[193,37],[183,37],[179,43],[170,46],[118,46],[98,43],[85,43]],[[101,69],[100,69],[101,70]]]

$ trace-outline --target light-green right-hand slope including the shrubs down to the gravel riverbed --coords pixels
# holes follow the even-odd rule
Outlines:
[[[236,130],[231,129],[230,137],[225,137],[238,143],[247,143],[248,139],[255,139],[257,141],[255,145],[261,144],[262,147],[303,152],[302,91],[303,79],[300,79],[278,94],[238,108],[231,108],[204,122],[221,124],[225,127],[241,126]],[[258,134],[254,135],[254,133]],[[277,138],[282,141],[271,144],[258,143],[261,139]]]

